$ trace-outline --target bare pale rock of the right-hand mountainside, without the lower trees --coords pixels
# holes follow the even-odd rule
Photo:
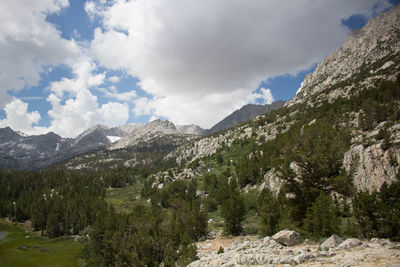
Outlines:
[[[289,129],[296,117],[303,116],[304,112],[313,107],[332,103],[338,98],[354,99],[359,97],[360,92],[376,88],[382,81],[395,81],[400,73],[399,29],[400,5],[350,34],[343,47],[324,59],[312,74],[307,75],[298,94],[284,105],[286,111],[281,117],[278,115],[272,121],[265,121],[266,115],[261,115],[251,122],[179,147],[167,158],[176,158],[178,163],[193,162],[210,157],[218,151],[227,153],[235,142],[262,140],[254,142],[254,145],[258,145],[273,140],[278,133]],[[395,106],[394,110],[398,110],[399,103],[391,104]],[[354,177],[358,190],[377,190],[384,182],[395,181],[400,173],[399,120],[380,118],[377,125],[364,129],[363,118],[374,112],[365,104],[353,106],[352,110],[340,114],[345,118],[342,124],[350,130],[352,137],[350,149],[343,157],[343,167]],[[309,123],[312,122],[315,120]],[[379,137],[380,131],[390,133],[386,140]],[[262,170],[260,172],[263,173]],[[264,182],[259,189],[269,187],[277,192],[282,181],[275,169],[262,175]]]

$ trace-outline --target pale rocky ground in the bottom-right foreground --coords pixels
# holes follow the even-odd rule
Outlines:
[[[347,239],[347,245],[329,251],[313,242],[283,246],[271,237],[206,240],[196,244],[200,259],[189,266],[395,266],[400,261],[399,243],[357,240]],[[224,252],[218,254],[220,247]]]

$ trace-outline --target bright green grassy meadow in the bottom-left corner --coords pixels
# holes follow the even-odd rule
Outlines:
[[[16,225],[0,220],[0,266],[84,266],[79,258],[84,243],[71,238],[45,239],[26,234]],[[29,238],[26,238],[30,235]]]

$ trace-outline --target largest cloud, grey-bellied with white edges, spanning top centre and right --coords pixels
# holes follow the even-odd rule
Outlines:
[[[102,21],[92,55],[154,96],[137,99],[135,114],[210,127],[253,101],[260,82],[308,69],[338,48],[349,31],[341,20],[370,16],[376,4],[388,1],[115,0],[90,1],[86,11]],[[267,90],[260,97],[272,99]]]

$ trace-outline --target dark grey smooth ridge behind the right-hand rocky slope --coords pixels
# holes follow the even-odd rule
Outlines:
[[[254,105],[248,104],[243,106],[241,109],[236,110],[216,125],[214,125],[211,129],[206,130],[204,132],[205,135],[213,134],[215,132],[219,132],[230,127],[233,127],[241,122],[249,121],[254,119],[255,117],[270,112],[271,110],[276,110],[281,108],[285,104],[284,101],[278,100],[272,104],[266,105]]]

